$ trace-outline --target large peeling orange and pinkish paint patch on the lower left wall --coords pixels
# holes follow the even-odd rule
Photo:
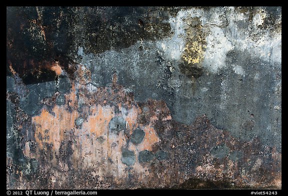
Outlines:
[[[51,70],[54,70],[56,74],[60,74],[60,66],[57,64],[52,65],[54,66],[50,67]],[[85,67],[79,67],[78,71],[79,69],[83,74],[89,73]],[[114,80],[116,81],[116,78]],[[85,88],[85,85],[81,82],[76,85],[72,83],[71,92],[65,94],[65,105],[55,105],[51,113],[43,109],[40,115],[32,117],[32,123],[35,125],[35,143],[38,150],[36,150],[35,154],[31,154],[29,144],[27,143],[23,149],[24,155],[38,159],[41,155],[41,150],[47,151],[47,144],[52,146],[53,154],[59,155],[61,144],[72,140],[73,144],[71,148],[73,154],[71,162],[74,168],[97,168],[95,175],[99,177],[112,175],[115,179],[124,178],[127,166],[121,162],[121,158],[122,148],[126,146],[127,142],[126,136],[122,132],[118,134],[109,132],[109,122],[115,117],[114,106],[96,105],[93,100],[82,93],[79,94],[79,98],[81,97],[81,100],[85,100],[85,104],[82,106],[83,115],[80,115],[77,111],[78,99],[75,93],[76,88],[82,89]],[[126,121],[126,129],[132,134],[139,126],[137,117],[141,113],[140,108],[133,103],[129,103],[128,106],[123,103],[115,104],[118,105],[121,111],[121,117]],[[80,116],[83,118],[83,122],[81,127],[77,128],[75,120]],[[151,151],[153,145],[159,142],[159,138],[152,127],[152,121],[156,119],[153,116],[150,119],[149,125],[140,127],[145,132],[144,139],[140,144],[134,145],[131,142],[128,144],[129,149],[135,152],[136,157],[136,163],[132,167],[134,167],[142,178],[148,175],[148,173],[138,163],[137,156],[142,150]],[[169,116],[167,119],[169,119]],[[72,136],[70,137],[65,132],[72,132]],[[54,158],[51,164],[56,166],[59,163]],[[67,166],[63,165],[61,167],[65,168]]]

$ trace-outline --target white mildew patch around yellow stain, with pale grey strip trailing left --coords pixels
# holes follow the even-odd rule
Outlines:
[[[203,31],[199,35],[204,36],[204,42],[198,43],[198,41],[196,43],[201,46],[202,55],[197,66],[202,66],[214,74],[228,66],[235,73],[244,76],[244,73],[239,68],[226,64],[226,55],[229,51],[244,52],[251,58],[259,58],[263,61],[274,63],[275,66],[281,63],[281,32],[260,28],[259,26],[263,26],[265,17],[267,17],[267,13],[262,8],[258,8],[256,13],[253,13],[252,18],[249,18],[248,12],[240,12],[235,7],[180,10],[175,17],[170,17],[167,20],[171,27],[170,37],[156,41],[140,39],[129,48],[136,48],[140,45],[143,47],[143,54],[146,55],[150,52],[150,48],[156,47],[165,60],[181,62],[187,41],[190,40],[191,44],[198,41],[195,38],[196,35],[193,37],[189,34],[191,28],[194,28],[193,22],[197,18],[199,25],[201,25],[200,30]],[[275,20],[275,22],[281,24],[281,18]],[[195,50],[197,49],[197,47],[194,48]],[[107,56],[109,56],[109,59],[126,58],[124,54],[128,51],[127,49],[123,49],[120,52],[108,50],[98,55],[92,55],[84,54],[83,48],[78,47],[77,55],[83,57],[81,60],[83,64],[93,67],[93,71],[99,71],[100,66],[95,66],[91,59],[99,59],[102,63],[109,64]],[[136,75],[143,74],[146,71],[145,69],[139,72],[135,68],[140,61],[139,52],[132,51],[134,52],[130,53],[131,58],[121,59],[121,61],[133,65],[131,69]],[[190,49],[186,56],[191,56],[192,54],[193,51]],[[175,65],[177,66],[177,63]],[[171,72],[175,69],[177,70],[176,66],[169,66]]]

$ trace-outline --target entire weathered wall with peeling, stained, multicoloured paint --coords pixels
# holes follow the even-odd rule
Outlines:
[[[8,189],[281,188],[281,7],[7,7]]]

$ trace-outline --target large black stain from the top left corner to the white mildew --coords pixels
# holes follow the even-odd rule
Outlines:
[[[25,84],[52,81],[49,67],[58,62],[73,78],[75,45],[97,54],[168,36],[168,15],[148,17],[147,8],[6,7],[6,75],[12,75],[11,67]],[[154,30],[145,30],[146,24]]]

